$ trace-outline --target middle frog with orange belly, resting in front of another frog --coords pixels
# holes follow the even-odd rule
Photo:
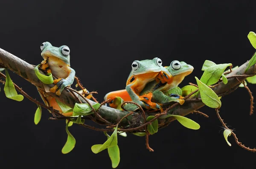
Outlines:
[[[105,100],[111,99],[111,107],[115,107],[113,105],[113,99],[115,97],[121,97],[125,101],[134,101],[146,109],[161,109],[158,104],[151,102],[152,93],[146,93],[140,96],[140,92],[148,82],[154,81],[155,79],[167,83],[172,82],[172,75],[162,66],[162,60],[157,57],[152,60],[135,60],[131,64],[131,68],[132,70],[128,76],[125,90],[108,93],[105,96]]]

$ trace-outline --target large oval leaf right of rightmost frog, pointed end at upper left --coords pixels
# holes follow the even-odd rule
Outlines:
[[[217,94],[210,87],[202,83],[197,77],[195,77],[195,79],[198,84],[203,103],[211,108],[220,108],[221,101]]]

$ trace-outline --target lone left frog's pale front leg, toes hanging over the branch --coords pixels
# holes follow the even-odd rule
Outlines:
[[[56,92],[56,95],[60,96],[61,92],[64,90],[65,87],[73,84],[76,72],[74,69],[72,69],[72,68],[70,68],[70,69],[71,69],[70,74],[69,74],[69,76],[67,76],[66,79],[59,78],[59,79],[54,80],[55,86],[50,89],[50,92],[52,92],[52,93]]]

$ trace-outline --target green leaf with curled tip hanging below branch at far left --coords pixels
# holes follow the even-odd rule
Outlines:
[[[12,79],[9,76],[8,70],[6,69],[6,82],[4,85],[4,93],[6,94],[6,97],[9,99],[13,99],[16,101],[22,101],[24,97],[22,95],[18,95],[17,91],[15,90],[14,84],[12,82]]]

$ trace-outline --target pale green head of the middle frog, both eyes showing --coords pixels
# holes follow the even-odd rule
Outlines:
[[[155,57],[152,60],[135,60],[131,64],[132,74],[139,75],[144,73],[151,72],[160,72],[163,69],[162,60],[158,57]]]

